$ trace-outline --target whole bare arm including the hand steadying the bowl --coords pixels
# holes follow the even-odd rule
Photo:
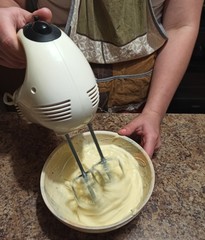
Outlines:
[[[163,25],[168,35],[155,63],[147,103],[142,113],[119,134],[141,136],[151,157],[161,145],[160,124],[186,71],[198,35],[203,0],[166,0]]]

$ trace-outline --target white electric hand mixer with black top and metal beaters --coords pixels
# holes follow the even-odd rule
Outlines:
[[[81,170],[77,180],[83,179],[88,195],[93,200],[96,198],[91,184],[93,174],[83,169],[68,135],[68,132],[88,124],[101,157],[99,164],[108,172],[90,123],[99,102],[93,71],[79,48],[55,25],[36,18],[20,29],[17,35],[27,59],[25,79],[13,95],[4,95],[4,102],[15,105],[19,114],[28,122],[66,136]],[[73,188],[77,197],[75,186]]]

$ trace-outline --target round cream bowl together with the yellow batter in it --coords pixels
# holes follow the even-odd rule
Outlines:
[[[155,172],[135,141],[109,131],[95,131],[106,159],[101,163],[89,132],[72,138],[88,173],[84,181],[67,142],[60,144],[42,169],[40,189],[48,209],[67,226],[91,233],[115,230],[133,220],[148,202]]]

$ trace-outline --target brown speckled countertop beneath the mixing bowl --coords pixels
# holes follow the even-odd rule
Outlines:
[[[93,127],[117,131],[133,117],[100,113]],[[41,170],[60,142],[52,131],[28,125],[14,112],[0,113],[0,239],[205,239],[205,115],[165,116],[162,146],[152,159],[156,173],[153,194],[132,222],[109,233],[72,230],[44,204]]]

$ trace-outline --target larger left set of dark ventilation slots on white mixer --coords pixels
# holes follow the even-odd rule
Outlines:
[[[44,121],[65,121],[72,118],[70,100],[38,106],[35,107],[35,111],[41,115]]]

